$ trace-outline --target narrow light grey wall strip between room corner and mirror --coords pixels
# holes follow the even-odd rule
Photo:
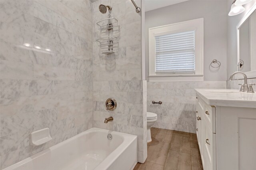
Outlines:
[[[227,1],[227,12],[230,11],[233,0]],[[256,0],[246,4],[246,10],[236,16],[228,16],[227,18],[227,77],[237,71],[237,46],[236,46],[236,26],[244,18],[248,10],[256,3]]]

